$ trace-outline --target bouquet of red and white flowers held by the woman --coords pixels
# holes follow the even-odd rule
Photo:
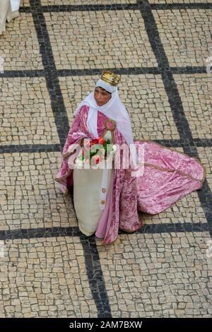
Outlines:
[[[82,147],[81,153],[76,158],[76,166],[81,167],[83,162],[96,166],[100,162],[105,161],[113,150],[115,150],[115,147],[109,139],[101,136],[95,138]]]

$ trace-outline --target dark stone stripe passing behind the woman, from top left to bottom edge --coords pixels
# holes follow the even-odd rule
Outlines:
[[[42,6],[40,4],[40,0],[30,0],[30,7],[32,9],[35,30],[37,32],[37,40],[40,45],[40,54],[42,55],[42,64],[45,70],[47,90],[49,91],[49,97],[54,113],[54,120],[57,126],[57,132],[59,135],[61,146],[64,146],[66,136],[69,131],[69,120],[66,114],[64,100],[59,86],[59,78],[57,76],[57,70],[54,64],[52,46],[49,40],[47,26],[45,23],[45,16],[42,13]],[[73,234],[71,233],[70,236],[71,235]],[[82,236],[80,237],[80,239],[84,251],[88,283],[90,285],[90,291],[94,295],[93,300],[98,310],[98,316],[104,315],[111,317],[110,302],[107,297],[107,290],[105,287],[105,281],[103,278],[102,268],[100,264],[100,257],[98,256],[98,254],[96,254],[96,252],[98,252],[96,243],[95,241],[93,241],[92,246],[88,247],[86,244],[88,244],[88,242],[92,240],[84,240]],[[93,261],[93,268],[91,274],[90,260]],[[101,278],[98,278],[98,275],[100,275]],[[93,278],[94,276],[95,278]],[[101,285],[103,295],[97,289],[97,285],[99,283]],[[103,302],[101,301],[102,296],[104,297]],[[100,298],[100,301],[98,300],[98,298]]]

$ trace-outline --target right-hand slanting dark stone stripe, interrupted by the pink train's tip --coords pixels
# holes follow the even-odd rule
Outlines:
[[[155,23],[155,18],[152,13],[152,8],[148,4],[148,0],[137,0],[139,10],[145,25],[145,30],[148,35],[148,40],[151,44],[155,59],[158,62],[158,69],[160,69],[161,76],[163,79],[163,85],[167,93],[167,97],[170,103],[170,109],[172,111],[172,117],[175,121],[175,126],[179,134],[179,138],[184,141],[184,153],[191,157],[199,159],[198,151],[194,145],[194,139],[192,137],[192,131],[189,128],[187,117],[184,114],[182,107],[182,100],[177,90],[177,85],[170,69],[169,61],[163,48],[163,43],[160,40],[158,27]],[[212,227],[212,193],[208,186],[207,180],[205,180],[204,186],[201,190],[197,191],[201,206],[204,209],[206,220],[209,228]]]

